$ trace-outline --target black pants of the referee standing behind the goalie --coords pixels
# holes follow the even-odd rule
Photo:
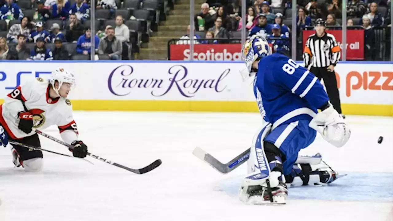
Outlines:
[[[324,68],[310,68],[310,72],[314,74],[321,81],[323,79],[323,83],[325,84],[327,95],[329,96],[330,102],[333,107],[339,114],[341,114],[341,102],[340,102],[340,93],[337,88],[337,79],[334,72],[329,72],[327,67]]]

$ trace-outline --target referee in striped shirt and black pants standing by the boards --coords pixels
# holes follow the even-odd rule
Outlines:
[[[326,23],[322,18],[315,20],[315,34],[310,35],[307,39],[303,60],[305,67],[311,73],[319,80],[323,79],[327,95],[334,109],[342,115],[340,94],[334,73],[334,66],[340,60],[340,47],[334,36],[325,32],[325,26]]]

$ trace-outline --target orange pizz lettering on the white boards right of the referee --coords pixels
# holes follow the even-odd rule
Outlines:
[[[383,79],[378,84],[379,79]],[[357,79],[356,84],[351,84],[352,78]],[[369,81],[370,77],[370,81]],[[351,71],[347,74],[347,87],[346,87],[346,95],[347,97],[351,96],[351,90],[358,90],[363,86],[364,90],[393,90],[393,85],[389,85],[393,82],[393,72],[363,72],[363,75],[357,71]],[[382,85],[381,85],[382,83]]]

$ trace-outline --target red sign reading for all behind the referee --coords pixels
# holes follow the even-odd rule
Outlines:
[[[336,42],[343,48],[342,45],[342,30],[326,30],[327,33],[332,34],[336,38]],[[303,50],[307,39],[315,31],[303,31]],[[347,30],[347,60],[364,60],[364,30]]]

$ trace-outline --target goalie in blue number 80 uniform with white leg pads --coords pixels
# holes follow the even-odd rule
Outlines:
[[[290,185],[337,179],[320,156],[298,157],[317,132],[336,147],[345,145],[351,135],[318,78],[285,55],[271,54],[266,39],[258,35],[244,43],[242,56],[246,68],[241,75],[244,81],[254,77],[254,94],[265,123],[250,149],[241,201],[285,204]]]

